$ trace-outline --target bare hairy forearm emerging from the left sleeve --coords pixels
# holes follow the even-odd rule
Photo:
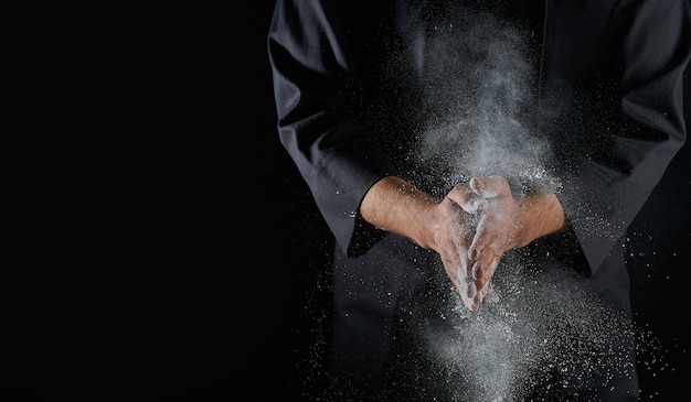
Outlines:
[[[362,218],[382,230],[404,236],[432,248],[427,216],[438,200],[400,177],[375,183],[360,205]]]

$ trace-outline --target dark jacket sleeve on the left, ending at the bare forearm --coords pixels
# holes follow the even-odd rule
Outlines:
[[[394,165],[359,116],[366,102],[375,20],[362,1],[277,0],[267,37],[280,142],[307,183],[337,243],[348,254],[383,232],[359,205]],[[366,12],[365,12],[366,10]]]

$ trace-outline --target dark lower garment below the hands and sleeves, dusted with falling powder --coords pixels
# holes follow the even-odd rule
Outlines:
[[[435,253],[394,235],[359,258],[337,247],[328,398],[636,400],[621,257],[584,276],[571,242],[565,235],[504,256],[492,289],[500,300],[488,296],[472,315],[458,311]],[[485,389],[495,382],[503,388]]]

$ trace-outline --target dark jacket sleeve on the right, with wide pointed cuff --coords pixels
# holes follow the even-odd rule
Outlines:
[[[559,196],[594,273],[685,141],[691,19],[685,0],[596,0],[591,10],[565,3],[549,2],[545,25],[549,82],[571,88],[552,95],[554,105],[571,99],[553,127],[564,135]],[[587,33],[574,24],[584,15],[589,23],[578,26]]]

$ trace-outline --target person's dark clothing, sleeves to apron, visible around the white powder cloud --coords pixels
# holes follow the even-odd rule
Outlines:
[[[454,6],[459,3],[475,9]],[[454,326],[445,319],[429,323],[430,317],[459,315],[448,295],[450,282],[436,254],[366,225],[358,207],[386,175],[400,175],[435,195],[448,191],[448,182],[437,182],[439,171],[416,164],[408,151],[426,122],[444,119],[443,110],[426,107],[424,94],[435,85],[456,85],[430,75],[446,62],[432,57],[438,51],[435,37],[449,32],[472,37],[478,33],[464,31],[463,24],[486,14],[515,22],[528,37],[534,93],[519,107],[553,152],[549,165],[559,183],[521,184],[528,191],[555,191],[574,229],[504,257],[495,280],[508,283],[512,268],[520,267],[520,283],[529,289],[556,276],[577,283],[577,292],[553,286],[563,287],[566,296],[560,303],[571,309],[540,298],[540,292],[527,297],[550,311],[555,334],[576,328],[574,336],[582,336],[587,319],[578,314],[591,309],[620,323],[584,340],[583,349],[603,354],[594,368],[600,377],[576,376],[567,387],[555,388],[572,376],[564,376],[568,370],[560,371],[556,362],[553,371],[538,376],[550,381],[531,382],[534,389],[518,394],[634,400],[638,391],[630,370],[632,348],[626,348],[630,303],[621,242],[685,139],[681,84],[691,54],[691,17],[684,1],[277,1],[267,48],[278,133],[337,241],[334,363],[346,378],[355,379],[342,392],[357,384],[382,398],[383,389],[393,394],[435,387],[448,392],[448,370],[424,352],[428,339],[421,334],[428,333],[422,329],[427,325]],[[468,57],[483,52],[471,51]],[[457,67],[450,63],[442,67]],[[467,73],[475,72],[459,69],[459,75]],[[491,313],[491,303],[482,308]],[[574,315],[577,319],[571,319]],[[541,325],[541,334],[549,334]],[[616,336],[603,335],[612,332]],[[598,344],[603,338],[605,346]],[[565,347],[560,341],[554,340],[555,347]],[[619,351],[620,359],[606,350]],[[432,365],[429,370],[422,369],[425,365]],[[551,366],[545,360],[533,367]],[[421,369],[411,372],[411,367]]]

